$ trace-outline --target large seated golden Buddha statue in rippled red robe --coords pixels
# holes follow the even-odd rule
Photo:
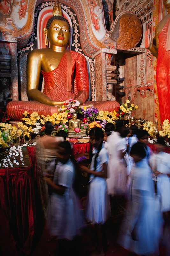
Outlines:
[[[93,104],[99,107],[98,110],[113,111],[119,105],[116,101],[87,102],[89,78],[86,58],[78,52],[66,50],[70,27],[67,19],[61,15],[61,6],[55,2],[53,16],[43,30],[46,44],[49,40],[50,48],[36,49],[27,55],[27,96],[32,101],[8,103],[7,114],[14,121],[23,118],[25,111],[36,111],[44,116],[58,113],[69,99],[78,100],[80,105]],[[43,92],[38,89],[40,72],[44,77]]]

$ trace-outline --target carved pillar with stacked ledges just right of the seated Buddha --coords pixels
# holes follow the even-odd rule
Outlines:
[[[107,84],[117,84],[117,81],[113,79],[115,74],[112,73],[116,66],[106,64],[106,54],[114,55],[116,53],[116,49],[103,48],[91,56],[92,59],[95,59],[95,100],[107,100]]]

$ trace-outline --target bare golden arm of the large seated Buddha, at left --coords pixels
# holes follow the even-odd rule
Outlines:
[[[40,103],[56,106],[63,105],[65,101],[58,102],[50,100],[44,93],[38,90],[39,76],[41,72],[41,53],[33,50],[27,55],[26,77],[27,77],[27,96],[30,100],[36,100]]]

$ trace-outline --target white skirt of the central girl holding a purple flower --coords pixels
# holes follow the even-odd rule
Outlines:
[[[96,224],[104,224],[109,217],[106,181],[95,177],[89,186],[86,217]]]

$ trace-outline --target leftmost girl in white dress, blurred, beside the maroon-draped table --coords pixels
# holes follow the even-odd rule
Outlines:
[[[80,207],[73,190],[75,167],[70,159],[71,156],[70,143],[60,142],[57,151],[59,161],[56,166],[55,161],[50,164],[50,168],[55,169],[54,178],[51,180],[44,177],[47,184],[53,188],[50,198],[49,231],[51,235],[57,236],[59,247],[60,241],[63,245],[63,239],[73,240],[76,236],[80,236],[84,227]],[[63,250],[62,248],[61,251]]]

